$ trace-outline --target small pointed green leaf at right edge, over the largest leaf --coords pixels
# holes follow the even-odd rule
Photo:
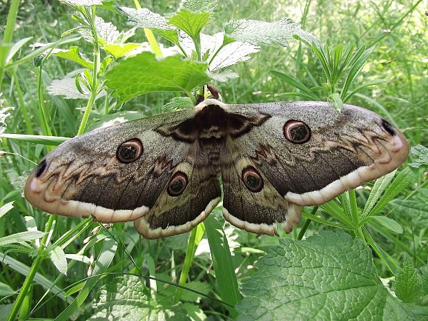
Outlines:
[[[422,298],[422,280],[407,253],[403,256],[402,264],[397,271],[393,290],[402,302],[418,303]]]

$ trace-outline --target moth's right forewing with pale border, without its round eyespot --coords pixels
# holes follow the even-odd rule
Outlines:
[[[238,105],[239,106],[239,105]],[[271,117],[237,137],[252,161],[289,202],[322,204],[343,191],[393,171],[409,152],[405,137],[379,115],[351,105],[293,102],[232,106],[243,115]],[[284,136],[287,121],[303,121],[311,136],[303,144]]]

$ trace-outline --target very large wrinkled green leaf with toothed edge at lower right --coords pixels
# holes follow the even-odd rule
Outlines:
[[[369,247],[344,232],[280,239],[242,286],[238,320],[415,320],[380,282]]]

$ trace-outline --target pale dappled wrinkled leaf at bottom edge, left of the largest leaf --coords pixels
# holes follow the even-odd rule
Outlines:
[[[162,304],[148,298],[144,279],[123,275],[101,287],[101,295],[94,301],[95,313],[89,321],[105,320],[191,320],[181,307]]]

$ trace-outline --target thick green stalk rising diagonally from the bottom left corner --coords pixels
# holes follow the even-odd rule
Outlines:
[[[32,262],[30,272],[28,273],[26,280],[22,284],[21,291],[19,291],[17,300],[15,300],[15,302],[13,304],[13,307],[10,311],[10,314],[8,316],[7,321],[14,321],[15,320],[15,318],[17,317],[17,314],[19,312],[19,309],[21,309],[21,305],[23,303],[23,300],[26,298],[28,290],[30,290],[30,286],[32,284],[32,281],[34,280],[35,275],[39,269],[39,266],[44,259],[43,252],[46,249],[46,242],[48,240],[50,228],[52,228],[52,224],[54,221],[55,221],[55,215],[49,215],[49,220],[48,220],[48,223],[46,224],[46,228],[45,228],[45,236],[43,236],[43,239],[41,240],[36,260],[34,260],[34,262]]]

